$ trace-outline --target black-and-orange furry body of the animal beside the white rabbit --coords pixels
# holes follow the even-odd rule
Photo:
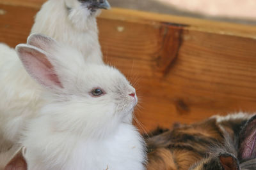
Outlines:
[[[145,137],[148,149],[147,169],[210,170],[212,164],[216,163],[215,159],[220,163],[220,160],[225,160],[226,157],[227,160],[232,160],[228,163],[234,163],[238,159],[232,148],[238,147],[237,136],[241,133],[242,137],[242,134],[246,132],[245,130],[242,132],[241,129],[248,124],[251,117],[252,115],[245,113],[227,117],[215,116],[196,124],[175,125],[171,130],[157,129],[149,137]],[[244,138],[243,141],[246,139]],[[228,146],[227,141],[234,142]],[[213,163],[209,163],[210,160],[214,160]],[[210,166],[204,167],[205,162]]]

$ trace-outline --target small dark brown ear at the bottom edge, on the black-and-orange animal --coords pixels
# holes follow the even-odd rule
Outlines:
[[[224,170],[239,170],[239,162],[233,155],[229,153],[221,153],[219,155],[220,164]]]

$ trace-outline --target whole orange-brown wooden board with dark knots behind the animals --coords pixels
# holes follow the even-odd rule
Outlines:
[[[26,42],[42,1],[3,1],[0,41]],[[138,90],[145,131],[256,110],[256,27],[120,9],[98,23],[104,59]]]

